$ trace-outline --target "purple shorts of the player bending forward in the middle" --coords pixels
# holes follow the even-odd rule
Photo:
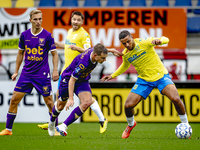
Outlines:
[[[69,98],[68,83],[69,81],[60,82],[58,98],[61,98],[62,101],[66,101]],[[78,96],[81,92],[92,93],[89,81],[75,82],[74,93]]]

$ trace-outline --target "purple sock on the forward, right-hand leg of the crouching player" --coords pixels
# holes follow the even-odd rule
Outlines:
[[[82,116],[82,114],[83,113],[78,106],[71,112],[69,117],[63,123],[68,126],[68,125],[72,124],[74,121],[76,121],[80,116]]]

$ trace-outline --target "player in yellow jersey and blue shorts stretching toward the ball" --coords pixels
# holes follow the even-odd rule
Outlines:
[[[167,44],[169,39],[167,37],[134,39],[130,32],[123,30],[119,34],[119,40],[125,47],[122,52],[124,54],[122,56],[123,62],[113,74],[104,76],[101,81],[109,81],[117,77],[125,72],[131,64],[138,73],[138,79],[125,102],[128,126],[124,130],[122,138],[128,138],[131,130],[137,124],[134,120],[134,107],[140,101],[146,99],[154,88],[158,88],[163,95],[166,95],[172,101],[181,122],[188,123],[185,106],[169,77],[167,69],[154,49],[156,45]]]

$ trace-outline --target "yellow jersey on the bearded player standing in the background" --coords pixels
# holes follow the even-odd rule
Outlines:
[[[65,65],[62,69],[62,72],[71,64],[74,58],[80,54],[80,52],[68,48],[72,44],[84,49],[91,47],[90,35],[87,31],[85,31],[83,27],[80,27],[80,29],[74,32],[73,29],[69,29],[68,31],[67,37],[65,39]]]

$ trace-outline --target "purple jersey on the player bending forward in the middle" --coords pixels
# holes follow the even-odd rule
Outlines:
[[[93,48],[89,48],[84,53],[76,56],[72,63],[63,71],[61,82],[63,79],[69,80],[71,76],[77,79],[76,82],[89,80],[90,73],[98,64],[91,61],[92,52]]]

